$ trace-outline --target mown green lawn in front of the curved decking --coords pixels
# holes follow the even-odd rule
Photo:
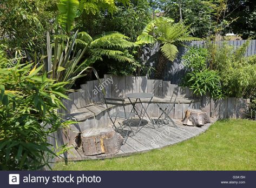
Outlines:
[[[256,122],[222,120],[185,142],[139,155],[57,163],[54,170],[256,170]]]

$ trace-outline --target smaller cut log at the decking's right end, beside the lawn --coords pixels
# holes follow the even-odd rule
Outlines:
[[[186,116],[183,119],[183,125],[202,126],[206,123],[210,123],[207,112],[197,109],[186,110]]]

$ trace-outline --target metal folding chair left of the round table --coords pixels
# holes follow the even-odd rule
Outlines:
[[[116,132],[119,132],[124,137],[124,143],[126,143],[126,140],[131,133],[133,133],[132,136],[135,135],[131,127],[132,123],[130,121],[133,118],[134,113],[126,112],[126,109],[124,107],[124,99],[122,98],[104,98],[104,99],[107,106],[109,118],[113,123],[113,129]],[[119,109],[117,108],[116,112],[110,113],[108,105],[122,105],[122,111],[119,111]],[[120,123],[117,119],[123,120],[124,123]],[[118,125],[116,123],[118,123]],[[126,127],[128,127],[128,129],[125,129]]]

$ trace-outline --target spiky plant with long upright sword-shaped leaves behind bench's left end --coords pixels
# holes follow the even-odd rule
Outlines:
[[[50,35],[47,33],[47,55],[41,58],[49,77],[55,79],[56,82],[68,82],[66,86],[68,89],[71,88],[77,78],[85,76],[84,71],[90,68],[86,65],[86,61],[82,61],[88,46],[83,50],[74,51],[77,35],[78,31],[76,31],[73,39],[68,38],[67,44],[56,38],[52,53]]]

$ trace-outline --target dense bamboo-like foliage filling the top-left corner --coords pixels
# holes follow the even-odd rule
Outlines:
[[[58,0],[1,0],[0,44],[6,55],[21,51],[28,61],[40,53],[46,31],[54,30]],[[25,62],[25,58],[23,59]]]

